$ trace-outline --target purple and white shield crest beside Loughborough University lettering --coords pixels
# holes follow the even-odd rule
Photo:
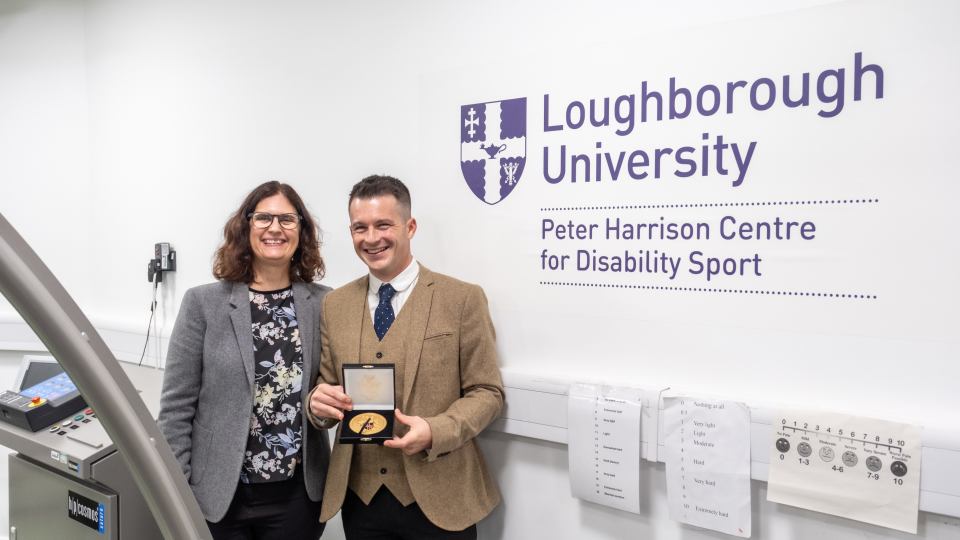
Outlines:
[[[506,199],[526,161],[527,98],[460,107],[460,170],[478,199]]]

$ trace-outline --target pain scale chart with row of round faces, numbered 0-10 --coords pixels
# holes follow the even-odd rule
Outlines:
[[[772,431],[768,500],[916,533],[919,427],[792,412]]]

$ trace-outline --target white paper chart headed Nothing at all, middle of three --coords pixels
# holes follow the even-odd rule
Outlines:
[[[663,403],[670,517],[749,538],[750,408],[694,397]]]

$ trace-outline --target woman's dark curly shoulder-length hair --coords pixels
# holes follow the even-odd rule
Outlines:
[[[253,251],[250,248],[250,220],[247,215],[267,197],[283,195],[303,218],[300,242],[290,261],[290,282],[310,283],[323,278],[326,267],[320,256],[320,230],[303,199],[288,184],[277,181],[260,184],[243,200],[223,227],[223,244],[213,257],[213,275],[217,279],[253,283]]]

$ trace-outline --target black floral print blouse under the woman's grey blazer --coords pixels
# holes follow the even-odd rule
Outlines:
[[[293,477],[302,460],[303,348],[293,288],[250,289],[250,315],[255,393],[240,481],[277,482]]]

